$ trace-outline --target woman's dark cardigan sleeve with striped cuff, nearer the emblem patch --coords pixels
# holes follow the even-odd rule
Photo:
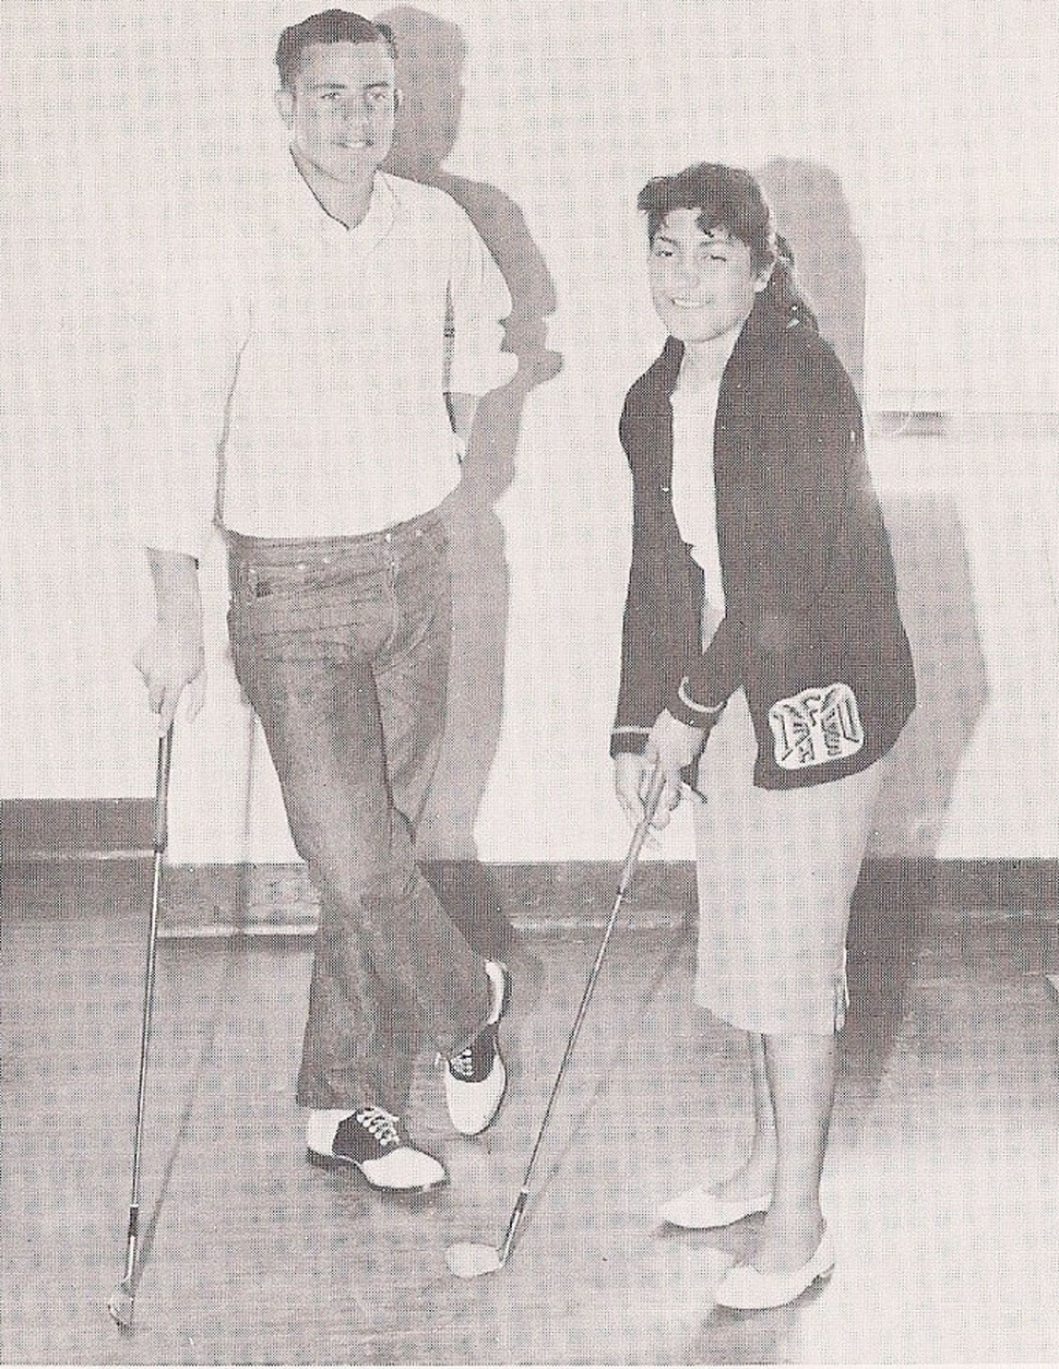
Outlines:
[[[805,638],[862,465],[859,404],[837,360],[822,346],[799,349],[791,360],[796,364],[780,366],[776,411],[757,431],[748,428],[755,449],[740,453],[754,463],[757,556],[746,583],[727,586],[725,617],[666,700],[692,727],[709,727],[748,669],[787,657]]]

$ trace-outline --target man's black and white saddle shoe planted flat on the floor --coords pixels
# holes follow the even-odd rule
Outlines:
[[[308,1160],[324,1169],[353,1165],[372,1188],[426,1192],[445,1183],[445,1169],[416,1150],[400,1117],[383,1108],[320,1109],[305,1127]]]

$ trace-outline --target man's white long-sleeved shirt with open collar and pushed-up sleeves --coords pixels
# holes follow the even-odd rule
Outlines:
[[[254,192],[204,225],[172,292],[148,546],[198,556],[215,516],[306,538],[426,513],[460,478],[445,393],[517,368],[499,349],[508,287],[447,194],[376,172],[346,229],[293,159]]]

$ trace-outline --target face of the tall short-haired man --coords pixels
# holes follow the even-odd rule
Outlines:
[[[397,88],[384,42],[313,42],[276,104],[291,146],[316,171],[363,182],[390,151]]]

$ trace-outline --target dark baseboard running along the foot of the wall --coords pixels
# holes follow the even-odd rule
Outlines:
[[[152,802],[118,799],[8,799],[0,802],[5,864],[131,860],[151,853]],[[520,927],[595,927],[617,890],[616,861],[478,864],[431,861],[431,882],[446,906],[487,905]],[[865,910],[932,910],[959,917],[976,910],[1059,910],[1059,860],[934,860],[872,857],[857,902]],[[625,924],[681,925],[695,908],[691,861],[643,861],[623,908]],[[301,934],[316,923],[317,902],[301,865],[175,865],[166,878],[163,921],[171,935],[242,931]],[[475,916],[473,910],[469,916]]]

